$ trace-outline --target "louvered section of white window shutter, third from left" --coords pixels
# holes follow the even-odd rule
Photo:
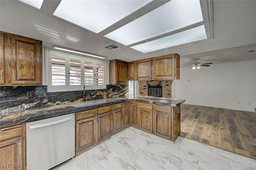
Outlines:
[[[94,62],[84,61],[84,85],[94,85]]]

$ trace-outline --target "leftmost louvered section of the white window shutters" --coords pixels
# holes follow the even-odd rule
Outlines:
[[[64,57],[52,56],[52,86],[66,85],[66,59]]]

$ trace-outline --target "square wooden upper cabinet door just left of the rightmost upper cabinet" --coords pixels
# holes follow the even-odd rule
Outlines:
[[[152,60],[147,58],[135,61],[135,79],[148,80],[152,78]]]

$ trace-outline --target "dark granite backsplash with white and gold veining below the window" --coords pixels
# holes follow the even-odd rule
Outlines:
[[[28,92],[34,92],[34,98],[28,98]],[[85,98],[86,100],[118,98],[127,92],[127,85],[107,85],[106,89],[86,90]],[[83,90],[47,92],[47,86],[0,86],[0,113],[82,102],[83,96]]]

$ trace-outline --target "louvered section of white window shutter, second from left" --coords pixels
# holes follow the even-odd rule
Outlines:
[[[81,60],[69,60],[70,86],[81,85]]]

